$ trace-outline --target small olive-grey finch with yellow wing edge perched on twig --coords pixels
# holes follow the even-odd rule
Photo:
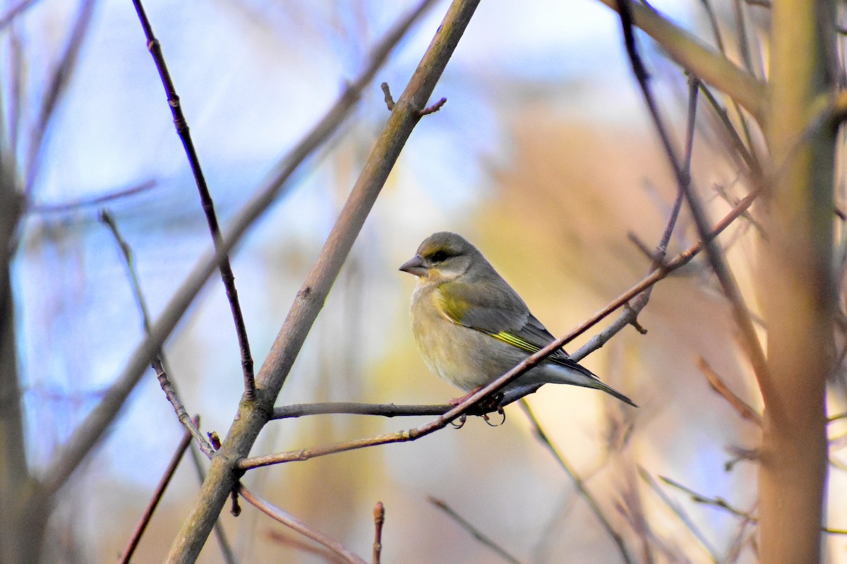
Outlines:
[[[424,362],[470,392],[490,384],[555,340],[512,286],[461,235],[429,235],[400,267],[418,277],[412,333]],[[503,390],[532,384],[573,384],[603,390],[635,406],[559,349]]]

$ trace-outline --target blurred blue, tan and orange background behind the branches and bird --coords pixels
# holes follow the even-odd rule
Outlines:
[[[19,4],[0,2],[0,14]],[[135,252],[154,318],[210,241],[131,3],[91,3],[78,60],[43,140],[38,132],[49,79],[89,3],[27,4],[0,29],[0,96],[4,150],[12,147],[29,195],[13,289],[27,456],[37,469],[97,404],[143,338],[125,264],[98,210],[108,208]],[[145,3],[224,229],[413,4]],[[710,37],[700,3],[653,4]],[[734,25],[736,3],[714,4],[722,25]],[[767,16],[759,7],[737,4],[748,25]],[[351,118],[233,253],[257,368],[388,117],[379,82],[388,82],[399,97],[446,7],[436,3],[412,28]],[[644,37],[641,46],[681,143],[685,77]],[[556,335],[641,279],[650,260],[629,235],[656,245],[675,185],[634,86],[617,15],[596,0],[482,3],[435,89],[446,105],[413,132],[278,404],[443,403],[459,395],[418,357],[407,312],[413,279],[397,271],[434,231],[457,231],[479,246]],[[716,188],[743,196],[746,187],[714,119],[701,113],[699,126],[693,174],[716,219],[729,209]],[[90,203],[127,190],[129,195]],[[752,243],[738,235],[748,227],[742,222],[727,239],[734,243],[729,257],[742,285]],[[694,241],[684,216],[670,253]],[[755,309],[755,295],[745,288]],[[656,287],[639,320],[646,335],[624,329],[584,360],[639,409],[593,390],[550,385],[529,402],[635,561],[756,561],[750,523],[659,482],[660,476],[672,478],[741,511],[756,510],[755,464],[725,468],[739,448],[755,447],[756,427],[713,393],[697,368],[703,357],[761,408],[726,303],[694,263]],[[200,414],[204,431],[223,435],[242,381],[217,276],[165,355],[188,411]],[[428,420],[285,420],[263,430],[254,453],[352,440]],[[107,440],[62,490],[46,561],[115,561],[181,436],[151,370]],[[246,484],[361,556],[370,554],[372,511],[381,500],[385,562],[502,561],[429,496],[444,500],[518,561],[621,561],[518,406],[507,408],[500,427],[473,418],[460,430],[413,443],[259,469]],[[831,499],[845,485],[844,473],[833,468]],[[163,559],[197,489],[197,471],[185,460],[134,561]],[[847,523],[841,504],[829,511],[834,526]],[[241,517],[224,511],[221,521],[237,561],[327,561],[297,548],[302,539],[246,504]],[[845,550],[843,538],[828,539],[829,561],[847,562]],[[213,538],[200,561],[224,561]]]

